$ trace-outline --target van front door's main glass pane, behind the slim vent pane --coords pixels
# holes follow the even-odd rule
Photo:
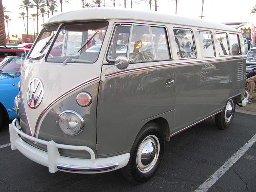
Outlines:
[[[134,62],[170,59],[164,28],[134,25],[130,59]]]

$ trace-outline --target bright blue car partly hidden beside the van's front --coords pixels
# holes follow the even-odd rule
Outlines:
[[[14,112],[14,98],[18,95],[21,57],[8,56],[0,62],[0,127],[4,119],[18,118]]]

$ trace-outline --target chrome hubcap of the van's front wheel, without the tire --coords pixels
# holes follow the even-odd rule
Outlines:
[[[159,140],[156,136],[147,136],[138,148],[136,164],[140,172],[149,172],[156,164],[159,156]]]

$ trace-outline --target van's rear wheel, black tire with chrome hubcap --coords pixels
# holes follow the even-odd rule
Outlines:
[[[219,129],[226,129],[232,123],[235,115],[236,103],[233,99],[228,100],[222,112],[215,115],[215,124]]]

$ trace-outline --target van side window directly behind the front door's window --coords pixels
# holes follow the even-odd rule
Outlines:
[[[174,29],[173,31],[178,58],[196,58],[192,31],[186,29]]]

